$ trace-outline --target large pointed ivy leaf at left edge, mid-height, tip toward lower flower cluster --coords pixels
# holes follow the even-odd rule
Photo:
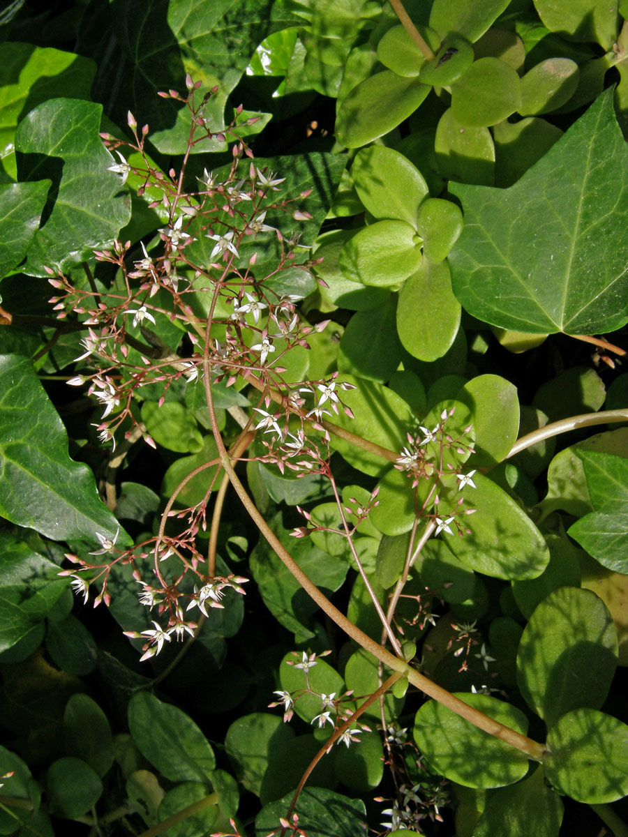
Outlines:
[[[0,454],[0,513],[9,521],[56,541],[116,536],[94,475],[70,460],[61,419],[31,362],[18,355],[0,356]],[[117,544],[130,543],[121,532]]]

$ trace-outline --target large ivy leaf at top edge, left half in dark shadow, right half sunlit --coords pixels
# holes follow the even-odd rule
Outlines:
[[[130,109],[138,125],[151,127],[158,151],[183,154],[189,111],[177,100],[157,99],[157,91],[185,95],[186,73],[203,82],[201,95],[219,85],[204,116],[212,131],[222,131],[229,95],[260,41],[299,23],[271,0],[150,0],[141,6],[120,0],[85,21],[80,49],[99,55],[94,95],[106,103],[114,121],[125,124]],[[214,139],[194,146],[193,152],[224,147],[224,141]]]

